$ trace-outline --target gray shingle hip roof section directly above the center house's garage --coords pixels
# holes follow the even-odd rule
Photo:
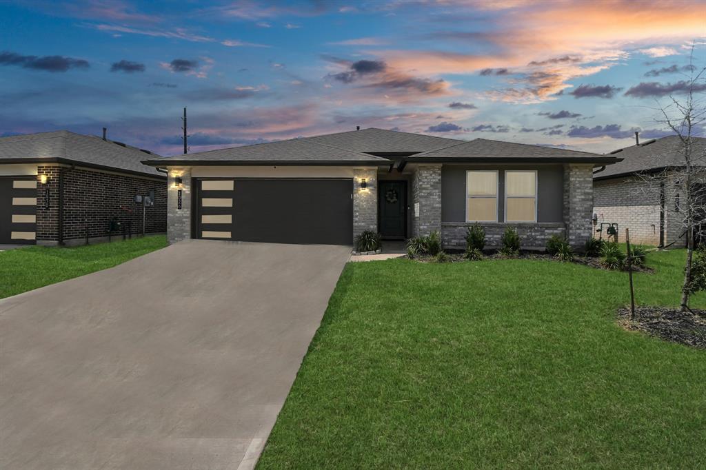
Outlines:
[[[316,164],[317,162],[321,162],[321,164],[336,162],[342,164],[353,162],[390,163],[390,160],[386,158],[331,147],[330,145],[316,143],[308,138],[280,140],[278,142],[176,155],[174,157],[150,160],[150,164],[164,161],[174,163],[198,161],[208,164],[217,164],[219,162],[252,162],[256,164],[277,162],[305,162],[307,164]]]

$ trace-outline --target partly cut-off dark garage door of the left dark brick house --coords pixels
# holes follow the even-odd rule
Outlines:
[[[0,245],[33,245],[37,227],[37,177],[0,176]]]

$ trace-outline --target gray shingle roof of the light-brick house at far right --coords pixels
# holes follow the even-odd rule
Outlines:
[[[663,169],[664,167],[682,166],[684,164],[683,155],[680,153],[681,140],[677,135],[648,140],[640,145],[633,145],[621,150],[611,152],[612,157],[620,157],[622,162],[606,167],[604,171],[597,173],[595,179],[606,179],[614,176],[624,176],[637,173],[639,171],[650,171]],[[706,138],[693,138],[692,155],[700,155],[696,162],[701,166],[706,166],[704,159],[706,152]]]

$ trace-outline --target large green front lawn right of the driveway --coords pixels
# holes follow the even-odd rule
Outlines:
[[[650,253],[638,303],[678,305],[683,258]],[[258,469],[705,468],[706,353],[627,303],[570,263],[349,263]]]

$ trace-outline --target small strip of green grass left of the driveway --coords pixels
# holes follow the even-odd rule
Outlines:
[[[167,246],[163,235],[59,248],[29,246],[0,252],[0,299],[104,270]]]

